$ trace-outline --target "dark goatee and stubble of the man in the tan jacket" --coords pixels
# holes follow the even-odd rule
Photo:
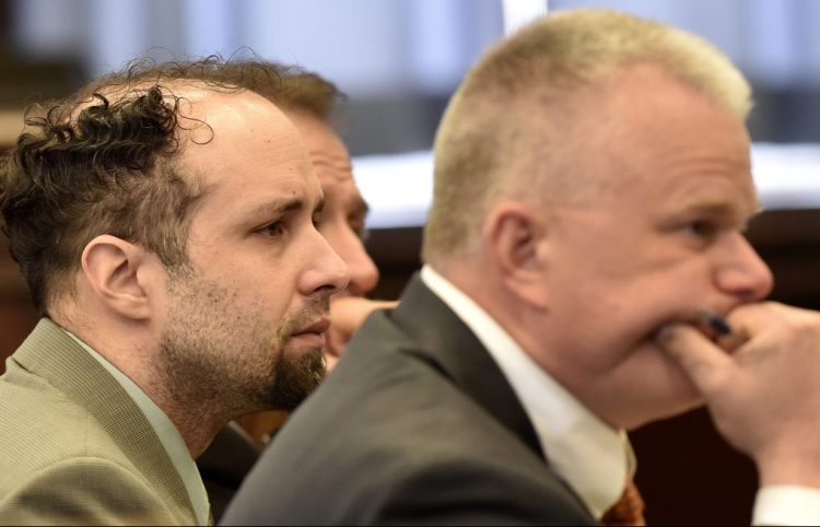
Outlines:
[[[305,307],[271,332],[260,321],[237,327],[226,316],[236,312],[231,293],[185,278],[174,282],[180,304],[161,337],[157,363],[173,400],[233,419],[261,410],[291,411],[318,386],[326,372],[323,350],[294,356],[288,343],[294,331],[327,315],[329,301]]]

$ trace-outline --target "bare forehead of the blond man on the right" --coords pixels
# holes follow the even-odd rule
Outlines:
[[[597,98],[578,162],[606,188],[665,199],[714,194],[757,209],[748,134],[730,110],[654,67],[625,70],[588,96]]]

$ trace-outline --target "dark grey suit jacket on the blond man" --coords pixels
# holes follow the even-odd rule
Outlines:
[[[233,524],[594,524],[487,350],[415,277],[280,431]]]

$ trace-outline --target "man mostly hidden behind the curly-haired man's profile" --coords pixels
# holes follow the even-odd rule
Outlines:
[[[200,69],[189,74],[197,73],[209,79],[211,71]],[[336,110],[345,96],[329,80],[295,65],[232,60],[219,73],[223,80],[270,99],[288,116],[305,143],[321,184],[325,208],[319,214],[319,232],[347,264],[350,274],[348,286],[330,302],[331,325],[325,347],[330,368],[365,316],[395,304],[365,297],[378,282],[378,269],[364,246],[367,204],[353,178],[350,153],[332,127],[338,117]],[[218,522],[261,447],[289,415],[282,410],[243,415],[223,429],[197,459]]]

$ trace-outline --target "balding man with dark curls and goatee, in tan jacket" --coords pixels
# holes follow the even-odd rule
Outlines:
[[[321,188],[284,114],[223,68],[94,81],[31,110],[3,161],[43,319],[0,377],[0,523],[206,524],[194,458],[324,375],[348,272]]]

